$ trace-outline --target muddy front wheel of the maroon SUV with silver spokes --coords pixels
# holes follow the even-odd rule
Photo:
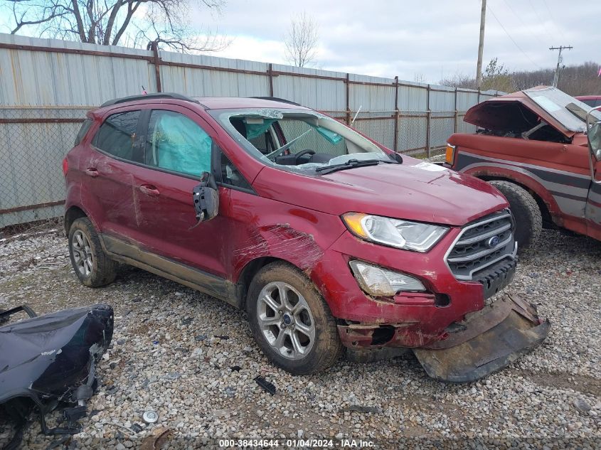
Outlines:
[[[288,301],[282,301],[282,291]],[[273,262],[257,272],[248,289],[246,311],[263,353],[293,375],[320,372],[342,353],[336,321],[324,298],[289,264]]]

